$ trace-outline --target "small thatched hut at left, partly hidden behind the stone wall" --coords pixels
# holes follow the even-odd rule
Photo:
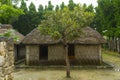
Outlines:
[[[12,30],[14,34],[13,36],[16,36],[18,38],[17,41],[14,41],[15,60],[25,58],[25,46],[20,44],[21,41],[24,39],[24,36],[21,33],[14,30],[12,25],[9,24],[0,25],[0,34],[4,34],[9,30]]]

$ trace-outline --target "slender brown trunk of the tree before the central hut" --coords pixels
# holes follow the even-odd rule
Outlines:
[[[66,59],[66,77],[70,78],[70,63],[69,63],[68,45],[67,45],[66,39],[64,39],[63,43],[64,43],[65,59]]]

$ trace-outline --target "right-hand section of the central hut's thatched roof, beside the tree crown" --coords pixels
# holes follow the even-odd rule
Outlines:
[[[103,44],[106,43],[106,40],[98,33],[96,30],[85,27],[82,29],[83,35],[78,39],[74,40],[75,43],[80,44]]]

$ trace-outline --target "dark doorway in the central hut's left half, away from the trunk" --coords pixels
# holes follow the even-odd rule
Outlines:
[[[39,59],[40,60],[47,60],[48,59],[48,46],[47,45],[40,45],[39,47]]]

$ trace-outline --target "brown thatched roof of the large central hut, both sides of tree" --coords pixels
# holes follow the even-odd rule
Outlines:
[[[102,44],[106,43],[106,40],[95,30],[90,27],[84,27],[82,29],[83,35],[79,38],[71,41],[75,44]],[[52,40],[49,36],[40,34],[38,28],[31,31],[23,40],[23,44],[54,44],[59,43],[60,40]]]

